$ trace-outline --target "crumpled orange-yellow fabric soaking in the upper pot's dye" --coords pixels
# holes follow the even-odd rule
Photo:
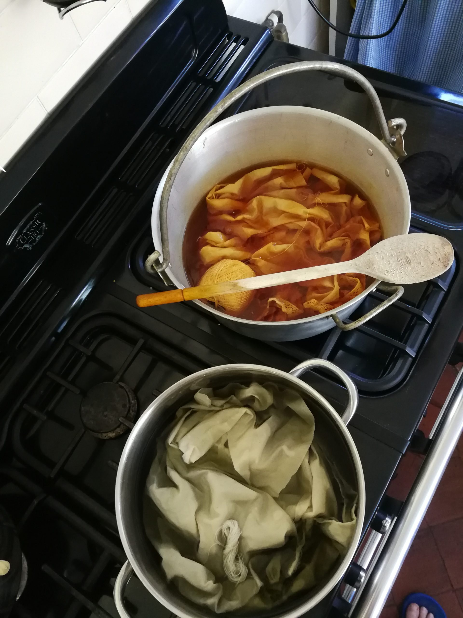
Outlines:
[[[262,167],[215,185],[206,205],[200,276],[224,258],[248,263],[257,275],[351,260],[381,239],[375,214],[354,187],[301,163]],[[256,290],[240,317],[285,321],[318,315],[364,289],[365,276],[349,273]]]

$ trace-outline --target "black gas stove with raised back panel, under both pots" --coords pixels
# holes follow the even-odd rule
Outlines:
[[[240,336],[194,304],[135,304],[136,294],[165,289],[144,269],[151,205],[186,135],[244,78],[311,59],[327,56],[227,21],[220,0],[159,0],[0,177],[0,504],[28,564],[13,616],[117,616],[120,454],[156,396],[209,366],[290,370],[321,357],[348,371],[361,394],[349,430],[364,464],[365,527],[384,506],[463,326],[463,97],[356,66],[386,118],[408,122],[401,165],[412,231],[445,235],[456,250],[439,279],[408,286],[354,331],[288,343]],[[273,80],[228,113],[275,104],[327,109],[379,135],[367,96],[322,73]],[[373,292],[351,319],[384,298]],[[342,408],[340,384],[319,373],[307,381]],[[332,603],[309,615],[327,616]],[[169,614],[136,578],[127,606],[138,618]]]

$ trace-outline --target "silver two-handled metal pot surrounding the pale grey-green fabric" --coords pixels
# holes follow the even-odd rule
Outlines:
[[[298,376],[308,369],[320,367],[332,371],[343,381],[349,396],[349,402],[340,417],[314,388],[303,382]],[[214,612],[196,605],[181,596],[173,585],[165,580],[161,559],[151,545],[143,527],[142,496],[149,467],[156,453],[156,440],[165,426],[175,417],[178,408],[191,399],[193,393],[201,387],[220,387],[230,382],[265,383],[272,381],[286,388],[297,391],[306,400],[315,417],[315,442],[324,452],[328,461],[342,471],[345,480],[358,494],[357,522],[352,544],[346,556],[326,575],[317,588],[308,591],[297,599],[273,609],[273,618],[296,618],[309,611],[326,596],[343,577],[352,561],[359,544],[365,512],[365,484],[362,465],[351,434],[346,424],[354,414],[358,395],[352,380],[336,365],[327,360],[307,360],[295,367],[290,373],[260,365],[220,365],[204,371],[198,371],[177,384],[149,405],[141,415],[120,458],[115,487],[115,512],[122,545],[128,561],[123,565],[114,586],[114,600],[121,618],[130,618],[123,600],[123,592],[133,571],[149,592],[173,614],[181,618],[211,618]],[[265,613],[265,612],[264,612]],[[259,616],[264,616],[260,612]],[[268,612],[267,612],[268,613]],[[257,614],[256,614],[257,616]]]

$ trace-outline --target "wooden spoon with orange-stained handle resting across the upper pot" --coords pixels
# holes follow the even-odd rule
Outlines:
[[[285,273],[223,281],[211,286],[185,287],[183,290],[154,292],[136,297],[138,307],[165,305],[181,300],[210,298],[262,287],[281,286],[333,274],[363,273],[373,279],[394,284],[411,284],[438,277],[453,263],[453,247],[447,239],[434,234],[403,234],[378,242],[355,260],[299,268]]]

